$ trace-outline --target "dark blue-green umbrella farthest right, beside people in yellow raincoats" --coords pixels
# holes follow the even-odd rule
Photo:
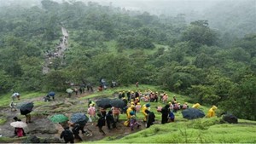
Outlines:
[[[203,118],[205,117],[205,113],[202,112],[200,109],[196,108],[188,108],[183,110],[183,118],[187,119],[195,119],[195,118]]]

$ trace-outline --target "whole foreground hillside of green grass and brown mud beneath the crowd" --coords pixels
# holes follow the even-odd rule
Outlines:
[[[25,120],[24,116],[20,115],[20,112],[9,112],[9,108],[4,102],[9,99],[9,95],[5,95],[1,99],[1,113],[4,113],[1,116],[1,125],[0,129],[1,142],[21,142],[28,141],[26,138],[29,136],[36,135],[41,141],[57,141],[59,139],[60,133],[62,131],[60,124],[54,124],[49,121],[49,117],[57,114],[63,113],[67,116],[71,116],[73,112],[85,112],[88,106],[88,99],[93,101],[99,100],[102,97],[114,98],[113,94],[119,93],[119,91],[127,90],[141,90],[151,89],[153,91],[159,91],[160,93],[166,92],[167,95],[170,95],[172,98],[173,95],[176,95],[177,101],[183,103],[189,97],[184,95],[177,95],[170,91],[165,91],[154,86],[140,85],[139,88],[135,86],[129,87],[118,87],[115,89],[107,89],[102,92],[94,93],[84,93],[82,95],[75,96],[73,98],[67,98],[66,94],[57,94],[55,96],[55,101],[43,101],[44,94],[24,94],[20,97],[20,101],[33,101],[35,107],[32,111],[32,124],[28,124],[28,127],[25,129],[27,137],[16,138],[13,137],[14,128],[10,127],[9,124],[12,122],[12,118],[17,116],[21,118],[22,121]],[[42,96],[38,96],[42,95]],[[144,104],[144,102],[141,102]],[[151,111],[156,115],[156,122],[153,126],[146,129],[143,125],[142,119],[143,114],[137,113],[137,118],[139,123],[142,124],[142,127],[139,130],[131,131],[130,128],[125,127],[123,122],[125,121],[125,114],[121,114],[119,118],[119,123],[117,125],[117,130],[108,130],[105,126],[103,130],[107,133],[106,136],[102,136],[96,128],[96,121],[93,123],[88,123],[85,126],[85,130],[89,130],[92,135],[81,135],[85,143],[96,142],[96,143],[137,143],[154,141],[153,143],[190,143],[190,142],[228,142],[228,143],[244,143],[244,142],[255,142],[253,134],[255,133],[254,127],[256,127],[255,121],[248,121],[239,119],[238,124],[221,124],[219,118],[200,118],[195,120],[184,119],[181,112],[178,111],[175,113],[176,120],[174,123],[170,124],[160,124],[160,112],[156,112],[157,106],[164,106],[162,102],[151,102]],[[189,107],[192,104],[189,103]],[[209,107],[202,106],[201,109],[204,112],[207,112]],[[44,126],[42,125],[44,124]],[[4,130],[4,131],[3,131]],[[234,135],[236,135],[234,139]]]

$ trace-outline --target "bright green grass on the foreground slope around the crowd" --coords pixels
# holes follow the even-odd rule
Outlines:
[[[129,87],[118,87],[114,89],[103,90],[102,92],[96,92],[92,95],[87,95],[84,97],[80,97],[78,101],[69,100],[68,103],[72,103],[75,107],[68,108],[69,104],[67,103],[57,103],[55,106],[50,107],[42,107],[49,106],[49,102],[44,101],[36,101],[34,102],[35,107],[41,106],[41,111],[45,112],[37,112],[33,111],[32,115],[47,115],[49,113],[54,112],[83,112],[85,110],[84,102],[87,101],[88,98],[98,98],[98,97],[109,97],[113,98],[114,93],[119,93],[122,91],[136,91],[141,90],[144,92],[146,89],[151,89],[152,91],[158,91],[160,93],[166,92],[169,95],[169,100],[172,100],[172,97],[175,95],[177,101],[183,104],[186,100],[188,100],[188,96],[185,95],[177,95],[170,91],[164,91],[158,89],[157,87],[150,85],[139,85],[139,87],[135,87],[135,85],[131,85]],[[31,99],[38,96],[44,95],[44,93],[33,92],[33,93],[22,93],[21,100]],[[0,98],[1,107],[5,107],[7,101],[10,101],[10,95],[3,95]],[[7,102],[7,103],[6,103]],[[145,104],[145,102],[141,102],[141,105]],[[161,113],[156,112],[156,107],[165,106],[162,102],[151,102],[151,111],[154,112],[156,116],[156,121],[160,122]],[[192,107],[192,103],[189,103],[189,107]],[[63,108],[64,107],[64,108]],[[202,111],[205,113],[208,111],[210,107],[201,106]],[[239,119],[239,124],[221,124],[220,118],[199,118],[195,120],[187,120],[184,119],[182,113],[180,111],[175,113],[176,120],[174,123],[169,124],[154,124],[150,128],[145,130],[140,130],[131,135],[125,135],[122,137],[122,134],[106,137],[101,141],[90,141],[91,143],[255,143],[256,137],[256,121],[250,121],[246,119]],[[143,119],[143,114],[141,112],[137,113],[138,119]],[[120,115],[120,120],[125,120],[125,114]],[[4,115],[0,115],[0,124],[4,124],[6,118]],[[124,129],[129,129],[124,127]],[[13,141],[14,139],[0,137],[0,141]],[[20,139],[19,139],[20,140]],[[84,142],[88,143],[88,141]]]

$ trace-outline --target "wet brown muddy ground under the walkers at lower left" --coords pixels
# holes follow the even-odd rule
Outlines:
[[[45,102],[44,105],[39,107],[34,107],[32,111],[32,123],[29,123],[25,128],[26,136],[36,135],[40,138],[52,139],[57,138],[60,139],[61,131],[63,128],[60,124],[54,124],[49,121],[49,117],[54,115],[55,113],[63,113],[66,115],[71,115],[73,112],[85,112],[87,110],[88,101],[79,101],[79,97],[90,95],[89,93],[84,93],[82,95],[73,95],[71,98],[67,98],[67,95],[56,96],[55,101]],[[43,97],[34,98],[31,100],[21,100],[20,101],[43,101]],[[94,100],[96,101],[96,100]],[[21,118],[23,122],[26,122],[26,118],[20,115],[20,111],[11,112],[9,108],[3,108],[0,110],[1,113],[4,114],[5,118],[7,118],[7,122],[0,126],[0,135],[16,138],[14,134],[15,128],[10,126],[11,122],[14,122],[13,118],[16,116]],[[129,135],[131,133],[137,132],[138,130],[145,129],[143,122],[141,121],[142,127],[138,130],[133,130],[129,127],[125,127],[123,125],[124,121],[119,121],[117,124],[117,129],[108,130],[107,125],[103,127],[103,130],[107,135],[102,135],[96,127],[96,120],[91,123],[87,123],[84,127],[84,130],[87,130],[91,135],[83,135],[80,134],[83,141],[98,141],[106,136],[111,139],[118,139],[125,135]],[[0,141],[1,142],[1,141]],[[9,142],[21,142],[21,141],[9,141]],[[63,142],[63,140],[61,140]],[[78,141],[75,141],[78,142]]]

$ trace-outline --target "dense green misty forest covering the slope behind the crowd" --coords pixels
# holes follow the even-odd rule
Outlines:
[[[71,83],[98,86],[105,78],[108,84],[155,85],[188,95],[191,103],[256,120],[256,33],[255,23],[247,22],[256,20],[255,9],[233,8],[247,15],[236,21],[224,14],[221,28],[230,25],[230,32],[212,29],[209,20],[188,23],[183,14],[154,15],[93,2],[2,7],[0,94],[65,91]],[[247,27],[233,29],[241,21]],[[47,56],[63,40],[61,27],[69,35],[67,49],[45,73]]]

